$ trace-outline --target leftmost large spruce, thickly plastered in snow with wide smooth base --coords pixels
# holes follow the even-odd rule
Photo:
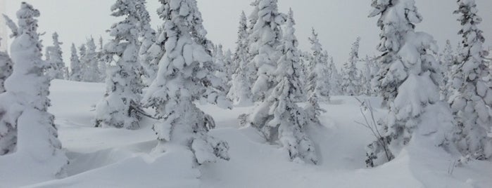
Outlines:
[[[9,154],[0,157],[0,173],[19,170],[22,163],[50,177],[63,176],[68,159],[58,140],[54,116],[47,112],[50,79],[44,70],[49,65],[41,59],[39,11],[23,2],[16,15],[18,29],[11,44],[13,73],[5,82],[6,93],[0,95],[0,154]]]

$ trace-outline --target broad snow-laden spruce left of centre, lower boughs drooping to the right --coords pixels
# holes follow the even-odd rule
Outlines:
[[[227,142],[208,135],[215,127],[211,116],[196,107],[197,100],[232,107],[219,78],[214,76],[210,42],[206,39],[196,0],[160,0],[163,44],[156,79],[142,100],[156,109],[160,121],[153,126],[160,141],[156,152],[181,145],[194,154],[197,164],[229,160]]]

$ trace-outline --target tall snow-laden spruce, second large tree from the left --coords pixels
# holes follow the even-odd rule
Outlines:
[[[139,63],[139,15],[137,1],[117,0],[111,6],[111,15],[125,17],[113,25],[114,38],[105,46],[108,54],[117,56],[117,62],[108,71],[106,95],[96,106],[96,127],[139,128],[142,88]]]

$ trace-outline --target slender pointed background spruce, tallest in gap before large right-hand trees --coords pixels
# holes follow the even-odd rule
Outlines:
[[[350,58],[343,65],[343,78],[341,89],[344,95],[358,95],[360,90],[360,77],[358,75],[357,62],[359,59],[360,37],[357,37],[352,45]]]

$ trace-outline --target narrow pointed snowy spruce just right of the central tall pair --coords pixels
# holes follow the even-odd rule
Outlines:
[[[328,57],[323,53],[323,48],[315,29],[313,29],[309,41],[313,52],[311,53],[310,60],[306,66],[308,77],[306,79],[307,87],[305,90],[310,96],[315,95],[318,98],[329,100],[330,83]]]

